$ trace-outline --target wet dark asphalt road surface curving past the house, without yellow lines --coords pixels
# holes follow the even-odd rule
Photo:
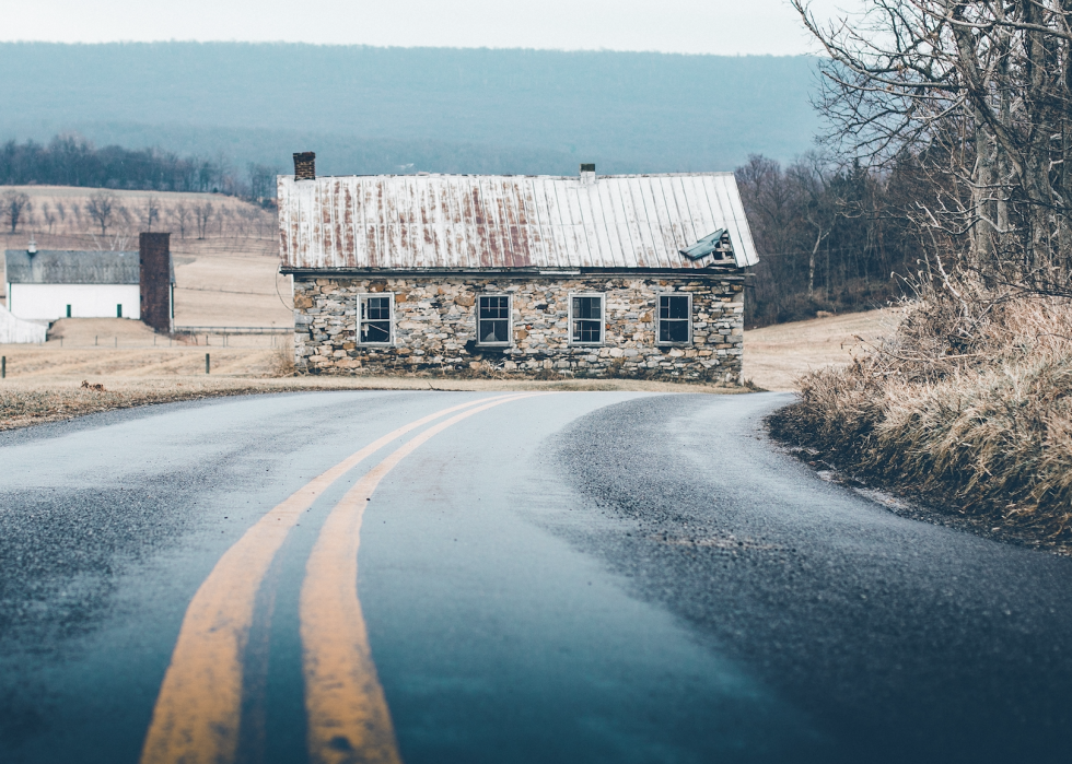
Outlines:
[[[252,397],[0,435],[0,761],[137,762],[186,608],[246,529],[491,395]],[[1072,561],[824,482],[762,433],[788,400],[555,393],[400,461],[365,510],[359,593],[401,759],[1069,761]],[[305,563],[398,444],[276,555],[235,761],[306,760]]]

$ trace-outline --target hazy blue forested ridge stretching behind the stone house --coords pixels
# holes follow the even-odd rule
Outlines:
[[[806,57],[244,43],[0,44],[0,140],[323,174],[732,169],[790,160],[817,117]]]

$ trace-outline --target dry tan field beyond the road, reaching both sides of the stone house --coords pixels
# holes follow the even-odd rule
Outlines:
[[[882,312],[823,318],[748,332],[745,372],[759,387],[793,389],[795,375],[850,359],[855,336],[874,338],[893,317]],[[638,390],[746,392],[747,388],[632,380],[514,381],[428,377],[294,377],[286,338],[198,338],[182,344],[138,321],[62,319],[43,345],[0,345],[0,430],[148,403],[242,393],[342,389]],[[275,343],[276,346],[272,346]],[[211,373],[205,373],[205,355]],[[82,383],[91,387],[82,387]],[[104,389],[93,389],[100,385]]]

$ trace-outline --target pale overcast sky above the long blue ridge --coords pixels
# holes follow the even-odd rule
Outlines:
[[[27,0],[5,3],[0,39],[814,51],[788,0]]]

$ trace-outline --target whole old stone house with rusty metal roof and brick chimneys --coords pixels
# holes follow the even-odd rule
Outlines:
[[[758,258],[731,173],[278,179],[310,374],[738,384]]]

